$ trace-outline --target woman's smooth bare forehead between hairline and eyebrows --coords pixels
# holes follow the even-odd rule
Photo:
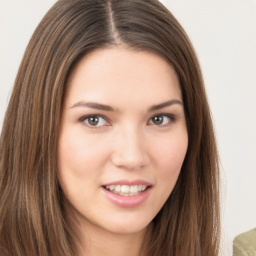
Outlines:
[[[178,77],[167,61],[151,52],[120,47],[97,49],[82,57],[66,85],[68,104],[83,99],[108,104],[142,98],[151,104],[182,100]]]

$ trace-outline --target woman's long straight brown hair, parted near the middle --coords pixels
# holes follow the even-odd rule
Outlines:
[[[74,233],[57,181],[61,103],[70,69],[99,47],[158,54],[175,69],[188,130],[177,183],[152,220],[147,256],[216,256],[218,157],[193,47],[157,0],[59,0],[33,33],[21,61],[0,137],[0,251],[71,256]]]

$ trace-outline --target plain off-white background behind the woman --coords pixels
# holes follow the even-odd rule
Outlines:
[[[55,0],[0,0],[0,123],[26,44]],[[197,51],[222,171],[222,252],[256,227],[256,1],[162,0]],[[0,125],[1,126],[1,125]]]

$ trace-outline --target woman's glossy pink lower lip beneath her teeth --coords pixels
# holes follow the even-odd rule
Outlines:
[[[150,194],[151,186],[147,187],[144,191],[136,195],[120,195],[112,193],[105,188],[101,187],[107,199],[115,205],[123,208],[133,208],[142,204]]]

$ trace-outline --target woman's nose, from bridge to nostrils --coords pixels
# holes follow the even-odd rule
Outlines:
[[[146,139],[138,128],[129,125],[119,130],[112,142],[114,150],[111,160],[116,167],[134,170],[149,163]]]

